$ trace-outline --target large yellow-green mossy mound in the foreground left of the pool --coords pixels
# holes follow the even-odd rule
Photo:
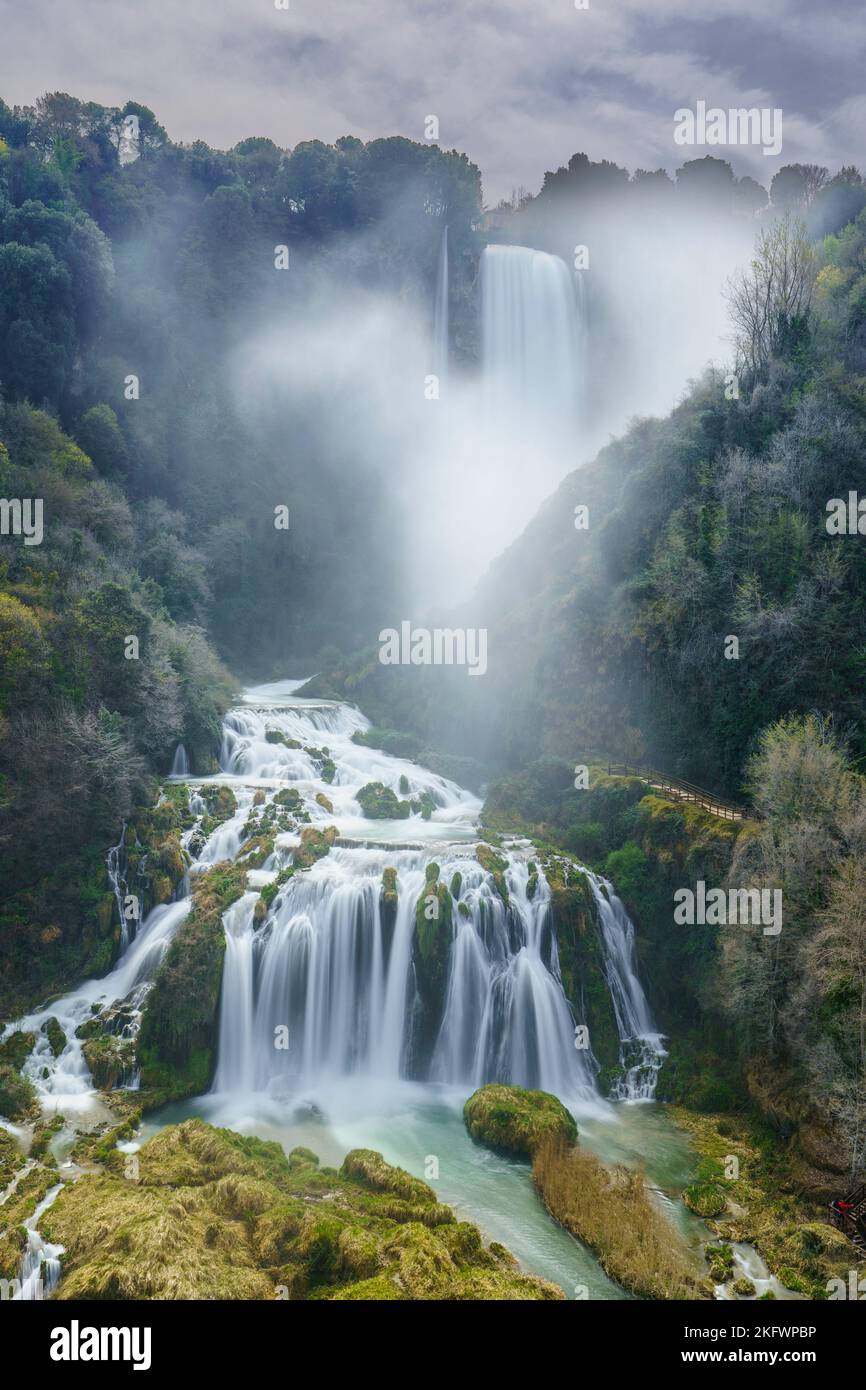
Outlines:
[[[359,1150],[314,1154],[211,1129],[163,1130],[70,1184],[44,1213],[58,1300],[560,1300],[420,1179]]]

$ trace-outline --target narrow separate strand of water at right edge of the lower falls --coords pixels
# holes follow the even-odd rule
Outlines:
[[[652,1101],[666,1052],[638,979],[634,924],[613,885],[595,874],[588,873],[587,877],[598,908],[605,974],[620,1034],[620,1066],[624,1074],[613,1094],[623,1101]]]

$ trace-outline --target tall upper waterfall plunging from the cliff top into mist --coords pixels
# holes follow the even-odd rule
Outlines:
[[[582,403],[582,296],[584,281],[559,256],[488,246],[481,257],[487,414],[534,452],[564,456],[566,467]]]

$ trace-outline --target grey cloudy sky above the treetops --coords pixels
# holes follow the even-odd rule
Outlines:
[[[698,100],[783,110],[780,157],[728,152],[763,183],[798,160],[866,163],[863,0],[588,3],[0,0],[0,96],[135,99],[172,139],[221,147],[423,139],[436,115],[489,203],[575,150],[674,170],[673,113]]]

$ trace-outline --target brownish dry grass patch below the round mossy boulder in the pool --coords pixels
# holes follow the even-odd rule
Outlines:
[[[552,1216],[595,1252],[612,1279],[641,1298],[710,1298],[677,1232],[652,1204],[644,1175],[605,1168],[585,1150],[546,1138],[532,1163]]]

